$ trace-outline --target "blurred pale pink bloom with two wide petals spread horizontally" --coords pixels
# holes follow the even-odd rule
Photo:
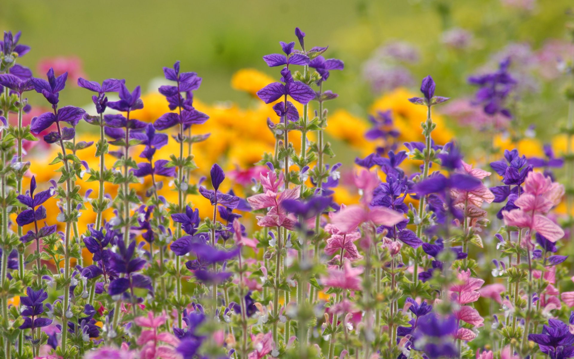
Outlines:
[[[341,209],[333,216],[332,222],[341,231],[349,233],[364,222],[373,222],[375,225],[394,226],[404,221],[404,219],[402,214],[385,207],[369,209],[368,207],[354,204],[345,209]]]

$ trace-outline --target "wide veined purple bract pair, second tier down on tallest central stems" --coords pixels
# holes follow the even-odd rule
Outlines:
[[[288,68],[285,67],[281,70],[281,75],[285,84],[273,82],[257,91],[257,96],[263,102],[272,103],[280,99],[281,96],[289,95],[298,103],[307,105],[309,101],[315,98],[315,91],[306,84],[293,80]]]

